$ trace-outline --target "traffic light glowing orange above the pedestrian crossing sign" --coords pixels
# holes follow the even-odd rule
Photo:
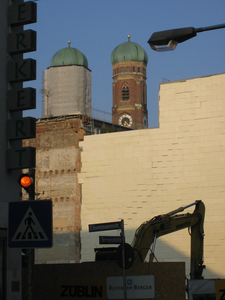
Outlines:
[[[29,194],[29,200],[35,199],[35,169],[29,169],[26,174],[20,174],[17,182],[19,185],[26,190],[26,193]],[[34,170],[34,171],[33,171]]]

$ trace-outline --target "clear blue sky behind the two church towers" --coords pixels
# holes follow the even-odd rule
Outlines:
[[[148,54],[147,108],[149,127],[158,127],[158,91],[163,78],[179,80],[225,72],[225,29],[198,33],[178,44],[174,51],[153,51],[148,39],[153,32],[207,27],[225,23],[224,0],[39,0],[37,23],[24,29],[37,31],[37,51],[24,58],[37,60],[37,79],[24,87],[37,89],[35,110],[24,116],[41,118],[41,72],[58,50],[70,46],[88,59],[92,78],[92,107],[111,113],[112,64],[110,56],[119,44],[140,44]]]

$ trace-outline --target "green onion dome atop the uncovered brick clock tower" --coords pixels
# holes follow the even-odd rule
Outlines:
[[[128,35],[128,42],[122,43],[117,46],[111,54],[111,62],[115,64],[119,61],[140,61],[145,64],[148,63],[148,55],[145,49],[137,43],[130,41]]]

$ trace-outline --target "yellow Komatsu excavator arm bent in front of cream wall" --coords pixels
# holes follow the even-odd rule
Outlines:
[[[176,214],[185,208],[195,205],[193,213]],[[144,222],[137,230],[131,246],[134,249],[136,262],[143,262],[152,247],[149,262],[153,261],[156,239],[162,235],[169,234],[184,228],[191,230],[191,249],[190,249],[190,279],[202,278],[203,266],[203,238],[205,205],[199,200],[186,207],[180,207],[168,214],[159,215],[149,221]]]

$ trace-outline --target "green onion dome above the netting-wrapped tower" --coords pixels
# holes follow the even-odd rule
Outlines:
[[[68,65],[80,65],[85,68],[88,67],[88,60],[86,56],[76,48],[69,46],[56,52],[51,59],[51,67],[68,66]]]

